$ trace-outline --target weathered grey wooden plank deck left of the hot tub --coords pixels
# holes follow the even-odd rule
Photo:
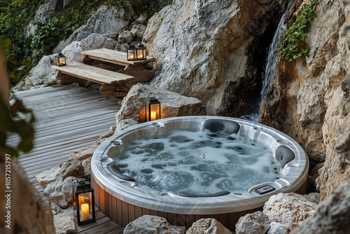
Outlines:
[[[97,90],[76,85],[52,85],[47,88],[15,92],[25,106],[34,111],[36,130],[34,149],[22,153],[18,162],[43,198],[43,188],[35,176],[43,170],[64,163],[69,153],[89,146],[99,134],[115,125],[119,99],[105,99]],[[17,142],[11,136],[8,143]],[[78,233],[123,233],[124,228],[98,208],[97,221],[78,226]]]

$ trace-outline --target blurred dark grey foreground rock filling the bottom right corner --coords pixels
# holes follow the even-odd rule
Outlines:
[[[295,234],[350,233],[350,183],[339,186],[333,195],[321,202],[316,213]]]

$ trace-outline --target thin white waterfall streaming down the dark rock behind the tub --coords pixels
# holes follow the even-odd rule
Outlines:
[[[250,115],[241,116],[241,118],[248,119],[249,121],[258,122],[264,95],[269,90],[269,85],[271,84],[272,79],[274,78],[274,70],[276,69],[276,64],[277,64],[277,57],[276,55],[274,55],[274,52],[276,51],[277,46],[279,45],[279,41],[282,35],[282,30],[286,29],[286,25],[284,24],[284,21],[288,16],[290,2],[288,4],[286,11],[283,13],[281,20],[279,21],[279,26],[277,26],[276,32],[274,33],[274,38],[272,39],[272,43],[269,45],[269,49],[267,50],[267,60],[265,64],[265,71],[262,73],[262,90],[260,92],[259,113],[252,113]]]

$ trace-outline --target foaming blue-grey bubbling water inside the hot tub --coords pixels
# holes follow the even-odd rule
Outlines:
[[[237,134],[172,130],[135,139],[125,148],[114,156],[121,172],[152,191],[244,193],[281,177],[269,146]]]

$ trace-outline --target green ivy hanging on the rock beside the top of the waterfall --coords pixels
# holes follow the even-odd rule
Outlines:
[[[281,42],[275,52],[277,57],[292,61],[302,55],[309,56],[309,48],[302,48],[300,43],[307,41],[307,33],[310,32],[311,21],[317,17],[316,13],[314,13],[317,5],[318,0],[311,0],[310,4],[302,8],[293,25],[288,30],[283,30]]]

